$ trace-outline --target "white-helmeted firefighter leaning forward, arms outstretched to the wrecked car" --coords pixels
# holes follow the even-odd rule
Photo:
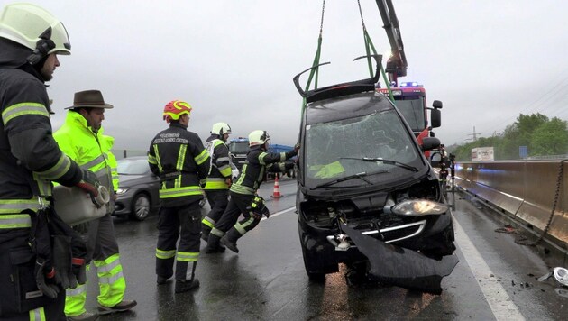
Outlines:
[[[267,153],[269,143],[270,136],[266,131],[256,130],[249,134],[249,151],[243,170],[231,185],[229,205],[209,234],[206,253],[223,252],[220,243],[233,252],[239,252],[236,241],[261,222],[259,214],[268,217],[265,206],[261,206],[263,200],[257,199],[255,194],[266,171],[285,173],[294,168],[294,162],[286,160],[296,156],[299,149],[296,145],[293,151]],[[237,222],[241,213],[244,218]]]

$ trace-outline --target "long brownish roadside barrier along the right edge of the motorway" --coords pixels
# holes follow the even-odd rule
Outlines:
[[[455,184],[540,233],[550,221],[547,236],[568,249],[568,161],[460,162],[455,166]]]

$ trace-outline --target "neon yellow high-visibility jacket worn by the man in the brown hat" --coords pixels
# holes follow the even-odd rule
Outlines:
[[[114,195],[118,189],[118,174],[116,159],[111,152],[114,139],[103,133],[102,127],[97,133],[93,133],[83,115],[69,110],[65,123],[53,133],[53,137],[59,143],[61,151],[77,161],[81,169],[92,170],[100,184],[108,188],[111,197],[106,205],[106,213],[112,213],[115,210]]]

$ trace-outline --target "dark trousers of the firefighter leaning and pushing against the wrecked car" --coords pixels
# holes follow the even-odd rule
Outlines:
[[[260,219],[253,218],[249,214],[249,209],[247,209],[247,207],[251,206],[254,195],[237,194],[234,192],[230,193],[231,200],[229,201],[229,205],[227,205],[227,208],[224,210],[223,216],[221,216],[219,222],[215,224],[215,230],[226,233],[237,223],[239,216],[243,214],[244,218],[238,222],[238,225],[240,225],[241,228],[237,229],[240,234],[239,236],[243,236],[244,233],[251,231],[261,222]]]

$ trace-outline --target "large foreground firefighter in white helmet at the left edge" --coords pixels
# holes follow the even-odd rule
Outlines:
[[[0,48],[0,319],[65,320],[65,290],[57,274],[71,272],[80,280],[84,264],[78,261],[85,252],[74,261],[76,269],[61,271],[70,262],[56,260],[51,240],[72,240],[74,256],[75,249],[85,251],[85,243],[55,214],[51,182],[97,196],[93,173],[81,170],[51,136],[45,82],[60,66],[58,55],[71,53],[69,37],[43,8],[5,5]],[[63,234],[53,234],[54,223],[61,223]]]

